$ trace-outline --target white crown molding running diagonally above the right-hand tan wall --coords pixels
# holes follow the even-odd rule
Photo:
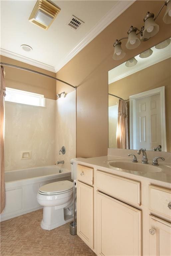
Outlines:
[[[64,67],[77,53],[79,53],[88,43],[90,43],[101,31],[103,31],[112,21],[121,15],[135,0],[119,1],[107,12],[101,20],[79,41],[79,43],[55,66],[58,72]]]

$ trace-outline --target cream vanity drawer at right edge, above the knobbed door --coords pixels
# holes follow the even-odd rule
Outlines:
[[[171,190],[149,185],[149,209],[171,218]]]

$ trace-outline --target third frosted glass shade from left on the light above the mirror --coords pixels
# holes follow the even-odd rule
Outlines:
[[[159,25],[155,23],[153,18],[148,18],[145,21],[144,30],[142,32],[143,37],[149,38],[155,36],[159,31]]]

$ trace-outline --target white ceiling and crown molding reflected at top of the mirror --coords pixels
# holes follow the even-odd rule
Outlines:
[[[153,46],[151,50],[153,51],[153,53],[148,58],[140,58],[139,54],[135,56],[137,64],[133,67],[126,67],[126,62],[123,62],[119,66],[109,70],[108,84],[114,83],[117,80],[120,80],[126,76],[134,74],[144,68],[152,66],[160,61],[163,61],[171,57],[171,43],[163,49],[156,49],[155,46]]]

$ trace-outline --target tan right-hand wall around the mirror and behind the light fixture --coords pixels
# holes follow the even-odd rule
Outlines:
[[[129,26],[140,28],[146,12],[156,14],[162,4],[163,1],[136,1],[57,73],[58,78],[78,86],[77,157],[107,155],[108,70],[171,36],[170,24],[162,20],[165,8],[156,21],[160,26],[156,36],[134,50],[126,49],[126,40],[123,41],[124,59],[112,59],[113,43],[127,35]],[[57,82],[57,92],[64,90],[73,89]]]

